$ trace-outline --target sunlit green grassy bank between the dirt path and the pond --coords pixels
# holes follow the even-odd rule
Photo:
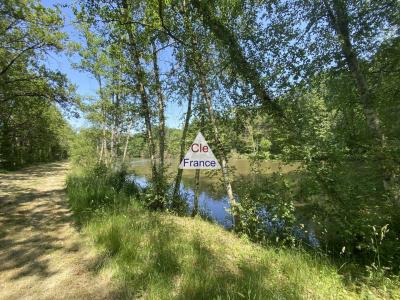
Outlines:
[[[71,179],[69,183],[72,203],[79,194],[88,201],[87,191],[93,190],[71,185]],[[97,270],[114,278],[121,298],[400,297],[395,285],[374,289],[345,284],[337,268],[316,254],[261,247],[200,218],[149,211],[137,199],[127,202],[123,208],[97,210],[83,226],[83,233],[102,254]]]

